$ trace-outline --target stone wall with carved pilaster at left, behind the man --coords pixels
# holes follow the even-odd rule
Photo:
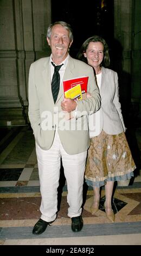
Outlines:
[[[50,54],[50,0],[1,0],[0,11],[0,126],[26,125],[30,64]]]

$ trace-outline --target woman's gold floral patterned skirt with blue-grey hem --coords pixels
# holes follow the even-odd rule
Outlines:
[[[136,169],[124,132],[100,135],[90,139],[85,179],[90,186],[103,186],[106,181],[130,179]]]

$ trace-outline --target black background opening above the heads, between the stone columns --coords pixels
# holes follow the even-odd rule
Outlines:
[[[73,28],[70,55],[76,57],[82,43],[92,35],[101,35],[110,52],[114,37],[113,0],[52,0],[52,22],[65,21]]]

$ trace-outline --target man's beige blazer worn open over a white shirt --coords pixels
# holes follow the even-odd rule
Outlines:
[[[29,71],[29,120],[35,141],[44,150],[53,143],[55,130],[58,130],[63,148],[68,154],[84,152],[89,147],[87,116],[89,111],[100,108],[100,95],[91,66],[69,56],[63,80],[88,76],[87,91],[92,95],[86,100],[77,101],[75,118],[66,120],[61,109],[64,99],[63,85],[54,104],[50,80],[49,57],[31,64]]]

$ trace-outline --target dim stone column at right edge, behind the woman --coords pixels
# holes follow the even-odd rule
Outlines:
[[[129,109],[129,111],[133,111],[138,115],[141,114],[140,13],[140,0],[114,0],[114,38],[120,42],[123,51],[122,72],[128,75],[126,76],[128,77],[127,80],[123,81],[121,93],[124,99],[127,94],[131,94],[130,107],[132,109]],[[124,89],[124,86],[127,88]]]

